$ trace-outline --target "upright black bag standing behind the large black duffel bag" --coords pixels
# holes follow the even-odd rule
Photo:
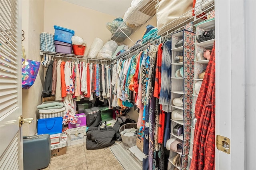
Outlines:
[[[87,127],[98,127],[99,123],[102,121],[100,109],[98,107],[84,109],[84,114],[86,116]]]

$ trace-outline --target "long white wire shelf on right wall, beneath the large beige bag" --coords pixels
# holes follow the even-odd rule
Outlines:
[[[204,8],[201,8],[202,6]],[[167,24],[164,28],[159,29],[158,33],[162,32],[161,34],[158,34],[158,36],[160,36],[160,38],[158,38],[156,40],[154,40],[154,39],[153,40],[148,39],[146,41],[144,40],[143,44],[142,44],[142,42],[138,42],[135,45],[133,45],[132,47],[130,47],[128,50],[124,51],[123,53],[120,53],[118,56],[116,56],[112,60],[119,59],[120,57],[130,58],[133,55],[138,54],[140,51],[146,50],[148,44],[156,45],[161,42],[170,40],[171,35],[175,34],[178,31],[184,30],[184,26],[186,24],[193,22],[193,25],[196,25],[200,22],[207,20],[207,14],[213,10],[214,10],[214,0],[206,0],[206,1],[202,2],[202,4],[199,4],[195,8],[186,12],[179,18],[176,18],[175,20],[173,20],[172,22]],[[197,12],[195,14],[195,16],[193,16],[193,14],[195,13],[194,11]],[[153,34],[156,34],[156,33],[153,33]],[[149,35],[148,37],[154,37],[153,34]]]

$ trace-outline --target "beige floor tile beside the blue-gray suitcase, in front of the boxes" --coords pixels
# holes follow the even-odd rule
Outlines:
[[[61,170],[67,167],[73,167],[86,162],[84,146],[75,145],[67,148],[64,155],[52,158],[49,170]]]

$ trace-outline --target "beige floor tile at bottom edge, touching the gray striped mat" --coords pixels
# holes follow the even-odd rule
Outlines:
[[[87,160],[88,170],[123,170],[112,152],[95,159]]]

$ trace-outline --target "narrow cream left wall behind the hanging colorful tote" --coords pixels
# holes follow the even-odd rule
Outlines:
[[[22,0],[22,30],[25,40],[22,42],[27,59],[41,61],[39,55],[39,34],[44,32],[44,0]],[[36,134],[36,119],[38,119],[37,106],[42,103],[41,93],[44,83],[44,71],[42,65],[34,85],[28,90],[22,90],[22,114],[24,118],[34,118],[34,123],[22,126],[22,135]]]

